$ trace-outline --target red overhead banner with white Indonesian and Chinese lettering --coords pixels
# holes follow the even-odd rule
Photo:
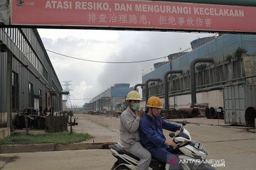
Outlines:
[[[12,25],[256,33],[256,7],[125,0],[14,0]]]

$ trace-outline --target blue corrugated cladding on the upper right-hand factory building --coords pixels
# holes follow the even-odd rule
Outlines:
[[[256,35],[225,34],[205,45],[188,52],[176,60],[173,60],[173,69],[182,69],[186,72],[190,69],[191,62],[196,58],[214,58],[215,62],[223,62],[228,55],[242,47],[247,54],[256,54]],[[199,63],[200,64],[200,63]]]

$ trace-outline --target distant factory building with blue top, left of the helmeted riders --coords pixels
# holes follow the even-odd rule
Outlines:
[[[95,98],[90,103],[85,103],[84,108],[91,107],[92,111],[122,111],[127,108],[125,98],[132,91],[130,84],[114,84]]]

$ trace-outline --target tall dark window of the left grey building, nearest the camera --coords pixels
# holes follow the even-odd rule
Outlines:
[[[18,74],[16,72],[11,73],[11,108],[13,111],[18,111]]]

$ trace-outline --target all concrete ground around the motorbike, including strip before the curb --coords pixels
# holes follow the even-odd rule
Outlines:
[[[217,169],[255,169],[255,129],[227,126],[223,120],[187,119],[186,129],[194,140],[204,143],[208,159],[224,159],[225,167]],[[181,122],[181,120],[175,120]],[[94,142],[118,142],[119,118],[79,115],[77,132],[89,132]],[[169,132],[165,131],[168,138]],[[87,141],[93,142],[93,140]],[[108,149],[0,154],[0,169],[110,169],[114,164]]]

